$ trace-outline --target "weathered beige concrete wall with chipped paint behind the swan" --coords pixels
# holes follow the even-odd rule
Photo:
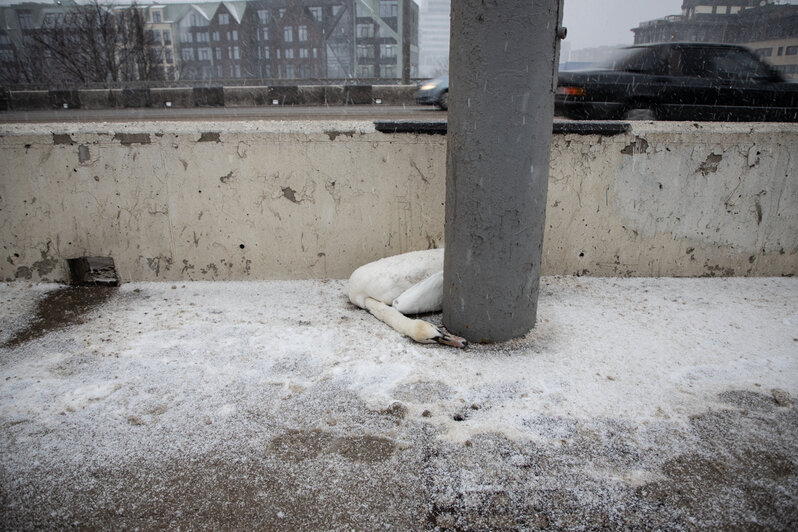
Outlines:
[[[0,279],[345,278],[443,245],[443,135],[370,122],[0,126]],[[544,274],[798,273],[798,125],[557,134]],[[486,176],[501,179],[501,176]]]

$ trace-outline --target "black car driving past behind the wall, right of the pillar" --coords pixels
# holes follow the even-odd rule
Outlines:
[[[798,83],[741,46],[631,46],[598,68],[560,73],[555,112],[586,120],[794,122]]]

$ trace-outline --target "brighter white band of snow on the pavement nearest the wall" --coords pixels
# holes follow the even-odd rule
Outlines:
[[[0,285],[0,323],[29,321],[50,289]],[[82,426],[64,445],[123,453],[290,425],[286,398],[346,422],[332,390],[399,401],[450,441],[557,442],[575,420],[684,422],[728,390],[798,396],[796,316],[796,279],[549,277],[532,332],[462,351],[400,336],[344,281],[131,283],[85,323],[0,349],[0,422]]]

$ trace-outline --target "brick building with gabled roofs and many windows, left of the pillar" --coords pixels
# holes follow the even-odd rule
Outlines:
[[[183,80],[415,76],[412,0],[254,0],[175,5]]]

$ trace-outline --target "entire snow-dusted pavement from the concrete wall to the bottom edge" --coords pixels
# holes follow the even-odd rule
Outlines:
[[[579,526],[574,515],[675,528],[761,524],[762,512],[778,528],[796,517],[798,280],[544,278],[531,333],[467,350],[400,336],[349,304],[345,284],[130,283],[40,337],[20,332],[37,322],[37,302],[60,287],[0,285],[5,524],[191,527],[183,501],[207,502],[202,494],[175,496],[177,516],[125,519],[160,508],[156,486],[222,489],[217,477],[230,468],[244,471],[249,495],[232,497],[228,483],[215,497],[249,501],[288,528],[479,528],[501,513],[486,490],[505,493],[505,513],[520,528]],[[440,315],[428,319],[440,323]],[[709,419],[717,430],[696,421]],[[761,433],[763,424],[778,430],[744,433]],[[707,445],[736,457],[736,465],[712,458],[721,460],[713,462],[717,482],[734,490],[695,507],[670,495],[657,506],[641,494],[641,486],[653,493],[685,475],[712,477],[696,472],[696,449]],[[741,458],[746,449],[782,464],[757,483],[781,513],[749,500],[752,481],[742,471],[765,466]],[[559,465],[543,468],[540,453]],[[221,460],[213,471],[197,466],[209,455]],[[292,488],[296,500],[259,484],[283,478],[277,464],[289,462],[285,478],[304,486]],[[191,482],[185,471],[194,471]],[[404,495],[374,503],[370,496],[390,483],[377,480],[389,473]],[[336,504],[297,509],[303,489],[323,499],[331,483],[360,474],[377,485],[351,503],[360,501],[359,510],[340,491]],[[99,485],[116,488],[100,496]],[[565,515],[556,508],[568,504],[541,499],[552,490],[575,497],[579,509]],[[469,502],[475,493],[482,498]],[[730,503],[743,509],[724,510]],[[407,506],[416,517],[399,517]],[[219,526],[266,522],[208,515],[205,523]]]

